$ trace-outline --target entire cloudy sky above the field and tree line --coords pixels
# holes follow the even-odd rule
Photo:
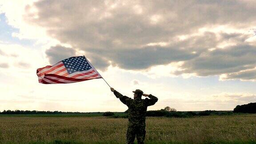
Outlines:
[[[0,0],[0,111],[127,110],[104,80],[148,110],[233,110],[256,102],[255,24],[255,0]],[[83,55],[104,80],[38,83]]]

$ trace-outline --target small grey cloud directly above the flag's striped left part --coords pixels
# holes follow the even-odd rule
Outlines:
[[[66,48],[60,45],[49,48],[45,51],[45,53],[49,58],[50,64],[56,64],[61,60],[76,55],[76,51],[74,49]]]

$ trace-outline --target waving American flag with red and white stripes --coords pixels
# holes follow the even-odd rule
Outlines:
[[[85,56],[70,57],[52,66],[38,68],[36,74],[42,84],[66,84],[102,78]]]

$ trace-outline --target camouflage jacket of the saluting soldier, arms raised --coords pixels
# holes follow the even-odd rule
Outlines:
[[[152,96],[151,94],[148,96],[150,99],[132,99],[130,97],[123,96],[116,90],[114,91],[114,94],[122,103],[128,106],[128,121],[130,124],[144,124],[146,120],[147,107],[156,104],[158,100],[156,96]]]

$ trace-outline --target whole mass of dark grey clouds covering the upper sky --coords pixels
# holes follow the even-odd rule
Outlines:
[[[36,7],[38,13],[29,13],[31,7]],[[100,69],[108,67],[109,61],[125,69],[184,61],[184,71],[177,73],[209,76],[255,67],[255,59],[249,53],[254,52],[254,46],[245,42],[248,35],[240,32],[192,35],[200,28],[219,25],[251,28],[256,21],[253,1],[41,0],[26,9],[25,20],[46,28],[60,42],[84,50]],[[181,35],[188,38],[177,39]],[[159,42],[167,45],[147,46]],[[226,42],[236,46],[208,51]],[[56,63],[69,52],[50,48],[46,53],[50,62]]]

